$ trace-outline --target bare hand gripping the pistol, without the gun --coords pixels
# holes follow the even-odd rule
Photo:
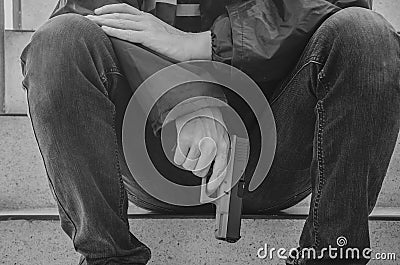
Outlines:
[[[176,119],[178,132],[174,162],[204,178],[214,161],[207,193],[214,193],[226,175],[229,136],[218,108],[200,109]]]

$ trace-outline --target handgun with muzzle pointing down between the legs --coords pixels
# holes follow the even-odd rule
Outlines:
[[[240,239],[245,169],[249,157],[249,140],[231,137],[229,161],[224,181],[217,191],[207,195],[207,178],[202,179],[200,202],[216,206],[215,237],[229,243]]]

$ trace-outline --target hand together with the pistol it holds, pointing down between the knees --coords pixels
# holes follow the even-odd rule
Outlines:
[[[178,145],[174,162],[202,178],[200,203],[216,205],[215,237],[231,243],[238,241],[249,140],[236,135],[229,140],[218,108],[181,116],[176,119],[176,129]],[[201,148],[204,144],[208,149]],[[187,156],[183,155],[186,153]],[[212,175],[207,178],[212,160]]]

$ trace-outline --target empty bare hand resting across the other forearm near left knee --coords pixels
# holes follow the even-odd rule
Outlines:
[[[187,33],[127,4],[105,5],[88,19],[112,37],[142,44],[177,61],[211,60],[211,33]]]

